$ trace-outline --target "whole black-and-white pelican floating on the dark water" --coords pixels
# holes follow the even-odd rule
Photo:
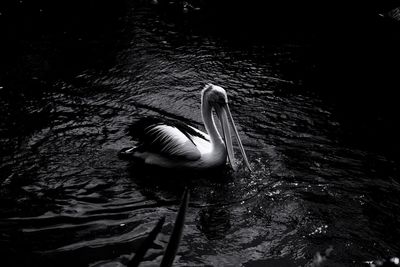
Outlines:
[[[213,110],[221,123],[222,133],[215,125]],[[204,87],[201,91],[201,115],[207,134],[178,121],[141,119],[128,129],[133,139],[137,139],[137,145],[122,149],[119,155],[143,160],[147,165],[195,170],[223,166],[228,158],[236,170],[230,123],[244,162],[251,171],[222,87],[212,84]]]

